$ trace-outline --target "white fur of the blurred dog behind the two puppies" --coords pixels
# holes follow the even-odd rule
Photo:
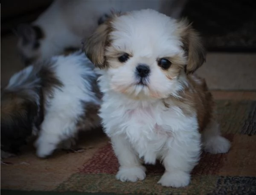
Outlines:
[[[87,38],[98,25],[98,20],[111,10],[132,11],[152,8],[172,17],[180,17],[186,0],[55,0],[32,24],[44,31],[39,50],[32,45],[22,45],[26,58],[48,59],[61,54],[65,48],[80,48],[81,40]]]

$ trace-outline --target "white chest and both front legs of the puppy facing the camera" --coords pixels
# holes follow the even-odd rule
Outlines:
[[[106,93],[100,112],[105,133],[110,136],[119,159],[116,178],[142,180],[145,168],[140,158],[146,164],[162,159],[166,173],[160,184],[172,187],[189,184],[189,172],[197,164],[201,151],[196,116],[186,117],[177,107],[166,110],[161,101],[140,102],[115,93]],[[177,177],[181,177],[180,182]]]

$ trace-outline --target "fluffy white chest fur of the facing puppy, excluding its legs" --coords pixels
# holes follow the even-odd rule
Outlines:
[[[198,128],[196,116],[186,116],[179,107],[168,108],[162,101],[143,105],[111,94],[111,98],[105,98],[100,116],[108,136],[125,137],[139,157],[150,164],[161,158],[176,139],[186,141],[184,133],[198,133],[192,131]]]

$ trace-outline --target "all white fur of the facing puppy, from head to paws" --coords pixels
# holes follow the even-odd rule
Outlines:
[[[177,96],[188,81],[184,73],[167,79],[157,66],[161,57],[184,54],[180,37],[175,33],[177,24],[156,11],[142,10],[118,17],[112,25],[116,30],[110,34],[111,46],[106,51],[115,48],[131,55],[122,65],[116,58],[110,59],[110,68],[99,71],[99,86],[104,92],[100,116],[120,164],[116,178],[143,180],[142,162],[155,164],[160,159],[166,171],[158,183],[167,187],[187,186],[201,153],[197,115],[183,113],[172,102],[168,102],[169,107],[163,104],[164,98]],[[151,70],[147,87],[137,85],[135,71],[140,63]],[[218,133],[215,137],[207,133],[205,138],[205,147],[210,152],[227,152],[227,140]]]

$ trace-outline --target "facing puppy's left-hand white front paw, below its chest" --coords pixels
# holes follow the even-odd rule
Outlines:
[[[131,181],[136,182],[138,180],[143,180],[146,177],[145,167],[120,167],[116,174],[116,179],[120,181]]]

